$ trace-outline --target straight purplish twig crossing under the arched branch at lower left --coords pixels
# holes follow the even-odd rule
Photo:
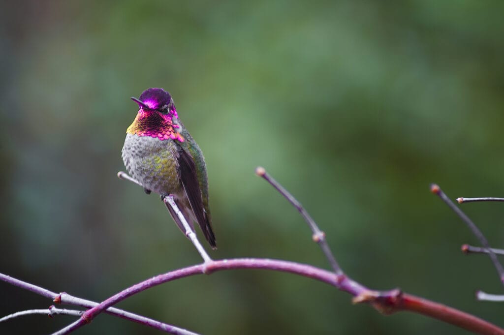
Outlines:
[[[33,292],[35,294],[41,295],[43,297],[46,297],[48,299],[51,299],[53,302],[59,304],[68,304],[68,305],[74,305],[74,306],[80,306],[80,307],[85,307],[85,308],[92,308],[98,305],[97,302],[91,301],[91,300],[86,300],[78,297],[74,297],[68,293],[55,293],[52,291],[49,291],[47,289],[44,289],[42,287],[24,282],[22,280],[16,279],[11,276],[4,275],[0,273],[0,281],[6,282],[8,284],[11,284],[13,286],[19,287],[21,289]],[[133,322],[137,322],[158,330],[165,331],[170,334],[179,334],[179,335],[198,335],[195,332],[179,328],[176,326],[173,326],[171,324],[167,324],[164,322],[160,322],[154,319],[151,319],[149,317],[145,317],[142,315],[138,315],[135,313],[131,313],[119,308],[111,307],[107,308],[105,313],[117,316],[126,320],[130,320]]]

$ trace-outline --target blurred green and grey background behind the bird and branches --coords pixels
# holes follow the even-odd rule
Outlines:
[[[200,261],[157,195],[115,176],[148,87],[163,87],[207,161],[215,258],[328,268],[262,165],[326,231],[344,270],[504,325],[502,292],[464,224],[429,192],[502,196],[504,3],[3,2],[0,271],[100,301]],[[494,246],[499,204],[464,205]],[[200,234],[201,235],[201,234]],[[0,314],[45,298],[0,283]],[[385,317],[305,278],[221,272],[119,307],[204,334],[465,334]],[[73,320],[28,316],[0,333]],[[80,334],[157,334],[101,315]]]

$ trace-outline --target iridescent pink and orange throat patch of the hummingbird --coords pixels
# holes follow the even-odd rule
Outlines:
[[[140,108],[137,117],[126,129],[126,132],[131,135],[158,138],[161,141],[171,139],[184,142],[185,139],[177,131],[180,126],[173,123],[173,118],[178,118],[175,108],[171,109],[167,114],[157,110]]]

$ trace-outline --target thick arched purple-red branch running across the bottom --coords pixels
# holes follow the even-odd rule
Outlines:
[[[174,270],[172,272],[147,279],[115,294],[114,296],[100,303],[98,306],[87,310],[79,318],[79,320],[71,323],[67,327],[55,332],[54,334],[68,334],[91,322],[91,320],[94,319],[99,313],[101,313],[103,309],[154,286],[185,277],[201,275],[204,274],[205,271],[212,273],[217,271],[238,269],[263,269],[278,272],[287,272],[327,283],[341,291],[347,292],[354,296],[354,303],[369,303],[371,306],[385,314],[391,314],[398,311],[412,311],[418,314],[430,316],[447,323],[451,323],[453,325],[476,333],[488,335],[504,335],[504,329],[499,328],[496,325],[482,320],[476,316],[462,312],[455,308],[448,307],[446,305],[402,293],[400,290],[377,292],[369,290],[365,286],[351,280],[345,275],[335,275],[334,272],[319,269],[312,265],[294,263],[285,260],[261,258],[212,260],[209,263],[185,267],[183,269]]]

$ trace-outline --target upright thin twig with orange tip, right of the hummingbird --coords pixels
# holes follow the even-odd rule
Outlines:
[[[321,247],[322,251],[324,252],[324,255],[326,255],[326,258],[329,260],[329,263],[331,264],[331,267],[334,270],[334,273],[336,275],[342,275],[343,271],[341,270],[341,267],[338,265],[338,262],[336,261],[336,258],[334,257],[333,253],[331,252],[331,248],[329,247],[329,244],[327,244],[326,241],[326,234],[320,230],[319,226],[317,226],[317,223],[311,218],[311,216],[306,212],[306,210],[303,208],[303,206],[296,200],[296,198],[290,194],[289,191],[287,191],[279,182],[277,182],[272,176],[266,172],[266,169],[259,166],[256,168],[256,174],[262,178],[264,178],[266,181],[268,181],[277,191],[280,192],[291,204],[294,206],[299,213],[301,213],[304,221],[308,224],[309,228],[311,229],[312,232],[312,238],[313,242],[316,242],[319,244]]]

